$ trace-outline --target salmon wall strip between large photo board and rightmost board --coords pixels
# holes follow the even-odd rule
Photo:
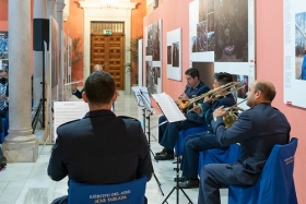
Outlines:
[[[257,77],[272,81],[278,95],[273,106],[285,113],[291,123],[291,136],[298,137],[298,147],[295,155],[294,178],[298,203],[306,203],[304,188],[306,184],[306,109],[287,106],[283,103],[283,1],[256,1],[256,35],[257,35]],[[303,91],[304,89],[304,91]],[[305,87],[296,92],[305,94]]]

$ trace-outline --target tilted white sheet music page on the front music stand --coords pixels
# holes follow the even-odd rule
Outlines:
[[[172,97],[165,93],[162,94],[153,94],[153,98],[156,100],[161,109],[163,110],[165,117],[168,122],[177,122],[186,120],[186,117],[180,111],[178,106],[172,99]]]

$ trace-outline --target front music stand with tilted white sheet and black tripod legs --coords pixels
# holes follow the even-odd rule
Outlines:
[[[183,115],[183,112],[179,110],[175,101],[165,93],[162,94],[153,94],[153,98],[156,100],[158,106],[161,107],[162,111],[164,112],[165,117],[167,118],[168,122],[181,122],[183,120],[186,120],[186,117]],[[179,140],[177,139],[177,146],[179,146]],[[189,196],[186,194],[184,189],[179,187],[179,155],[175,154],[175,157],[177,159],[176,161],[176,168],[174,170],[176,171],[176,185],[173,188],[173,190],[168,193],[166,199],[162,202],[168,203],[167,199],[170,196],[170,194],[176,190],[176,203],[179,203],[179,190],[184,193],[186,199],[189,201],[188,204],[192,204]]]

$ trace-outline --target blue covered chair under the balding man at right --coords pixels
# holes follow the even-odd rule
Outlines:
[[[294,154],[297,139],[275,145],[257,182],[251,187],[228,187],[228,204],[297,204],[294,180]]]

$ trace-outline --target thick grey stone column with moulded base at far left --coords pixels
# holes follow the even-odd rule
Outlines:
[[[3,154],[8,161],[36,161],[38,141],[31,127],[31,0],[9,0],[9,34],[10,127]]]

